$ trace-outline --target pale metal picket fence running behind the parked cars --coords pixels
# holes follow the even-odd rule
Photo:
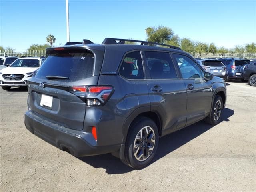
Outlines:
[[[229,53],[197,53],[197,52],[190,52],[194,58],[247,58],[247,59],[256,59],[256,52],[249,53],[249,52],[229,52]],[[16,53],[13,50],[0,50],[0,56],[32,56],[32,57],[40,57],[46,56],[45,50],[28,50],[27,52],[23,53]]]

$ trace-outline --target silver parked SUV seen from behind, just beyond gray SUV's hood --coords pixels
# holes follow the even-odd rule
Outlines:
[[[227,80],[227,68],[221,62],[216,59],[201,59],[196,60],[206,72],[212,73],[214,76],[218,76]]]

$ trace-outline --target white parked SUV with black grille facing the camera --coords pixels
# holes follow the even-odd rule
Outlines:
[[[0,86],[10,90],[12,86],[27,86],[28,80],[38,70],[42,60],[37,57],[23,57],[0,71]]]

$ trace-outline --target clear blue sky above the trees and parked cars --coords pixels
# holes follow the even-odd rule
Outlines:
[[[106,37],[146,40],[149,26],[168,26],[180,38],[232,48],[256,42],[256,1],[69,0],[70,41]],[[31,44],[66,43],[65,0],[0,0],[0,45],[25,51]]]

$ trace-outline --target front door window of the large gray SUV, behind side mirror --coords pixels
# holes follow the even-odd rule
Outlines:
[[[183,78],[196,79],[204,77],[204,72],[192,59],[180,54],[173,55],[180,67],[180,71],[182,73]]]

